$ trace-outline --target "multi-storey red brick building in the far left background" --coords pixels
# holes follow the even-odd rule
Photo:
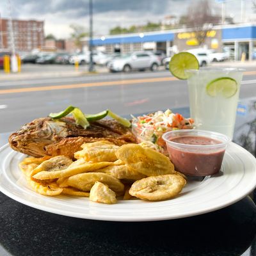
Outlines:
[[[31,51],[44,45],[44,21],[0,19],[0,50],[12,49],[11,31],[15,51]]]

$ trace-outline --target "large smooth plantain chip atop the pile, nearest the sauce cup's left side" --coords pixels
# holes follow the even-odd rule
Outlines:
[[[126,144],[116,151],[116,156],[137,172],[147,176],[175,173],[170,159],[152,148],[143,148],[137,144]]]

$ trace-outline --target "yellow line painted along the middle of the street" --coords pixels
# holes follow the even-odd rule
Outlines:
[[[256,71],[246,71],[244,75],[256,75]],[[178,80],[176,77],[157,77],[157,78],[146,78],[146,79],[128,79],[118,81],[107,81],[107,82],[93,82],[93,83],[81,83],[81,84],[65,84],[65,85],[52,85],[52,86],[40,86],[30,88],[18,88],[0,90],[0,94],[6,93],[21,93],[21,92],[41,92],[51,90],[63,90],[63,89],[74,89],[74,88],[85,88],[93,86],[111,86],[111,85],[125,85],[125,84],[136,84],[136,83],[155,83]]]

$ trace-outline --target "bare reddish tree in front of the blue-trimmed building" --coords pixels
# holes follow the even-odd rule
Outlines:
[[[195,39],[201,45],[206,38],[207,32],[213,24],[220,22],[220,17],[212,14],[212,6],[209,0],[193,1],[188,8],[186,19],[183,17],[188,28],[193,28]]]

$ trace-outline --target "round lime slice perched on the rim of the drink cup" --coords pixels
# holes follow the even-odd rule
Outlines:
[[[186,69],[199,69],[196,56],[189,52],[174,54],[169,62],[169,70],[173,76],[182,80],[188,79],[189,75],[185,73]]]

